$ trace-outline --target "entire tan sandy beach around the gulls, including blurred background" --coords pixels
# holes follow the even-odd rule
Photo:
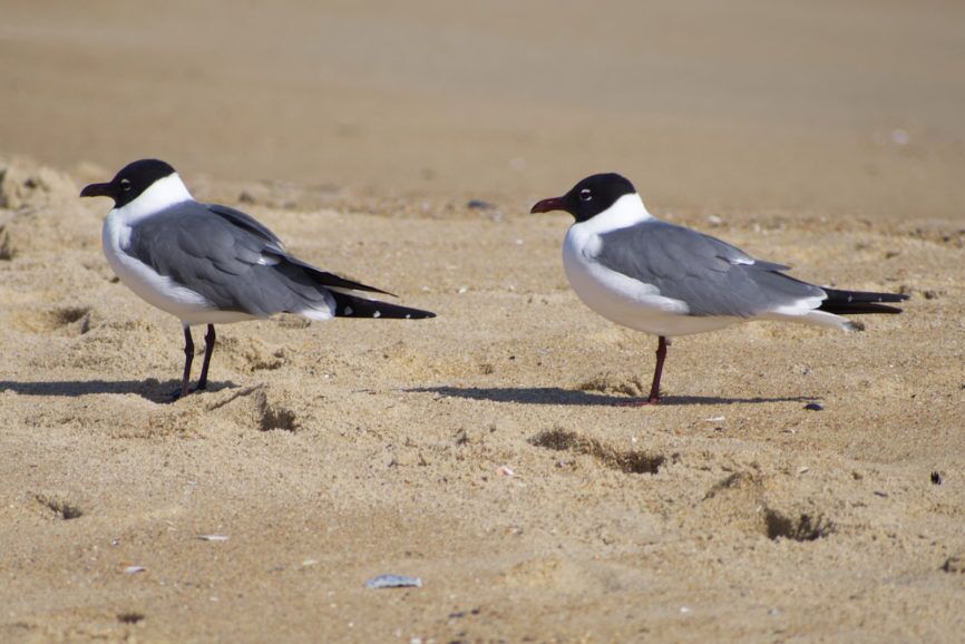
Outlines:
[[[961,6],[386,4],[2,3],[0,642],[961,642]],[[145,155],[439,318],[224,325],[166,402],[178,324],[76,197]],[[525,214],[600,169],[913,299],[614,406],[655,341]]]

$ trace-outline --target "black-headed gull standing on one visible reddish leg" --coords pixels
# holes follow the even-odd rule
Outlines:
[[[667,338],[752,320],[806,322],[850,331],[837,313],[900,313],[880,302],[907,295],[838,291],[784,275],[782,264],[754,260],[696,231],[662,222],[617,174],[586,177],[533,206],[576,219],[563,242],[563,266],[583,302],[607,320],[660,338],[650,398],[660,401]]]

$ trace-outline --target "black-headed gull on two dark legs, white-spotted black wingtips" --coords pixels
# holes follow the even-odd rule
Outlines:
[[[196,387],[203,390],[215,324],[274,313],[298,313],[310,320],[436,316],[352,294],[391,295],[293,257],[274,233],[245,213],[194,201],[174,168],[162,160],[134,162],[109,183],[85,187],[80,196],[114,199],[103,231],[110,267],[147,303],[181,320],[182,397],[192,391],[191,328],[197,324],[207,324]]]

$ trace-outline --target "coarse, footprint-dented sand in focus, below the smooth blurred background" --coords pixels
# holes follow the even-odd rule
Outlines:
[[[680,339],[666,404],[627,409],[653,342],[578,305],[563,216],[250,205],[440,316],[222,326],[212,390],[167,403],[176,321],[105,267],[103,204],[19,163],[57,180],[3,212],[4,640],[954,640],[957,243],[728,225],[798,274],[914,299],[862,333]],[[362,587],[387,572],[425,587]]]

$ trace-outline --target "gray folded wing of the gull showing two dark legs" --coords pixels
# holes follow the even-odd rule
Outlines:
[[[333,306],[328,290],[289,261],[251,216],[185,202],[134,225],[124,251],[223,311],[257,318]]]

